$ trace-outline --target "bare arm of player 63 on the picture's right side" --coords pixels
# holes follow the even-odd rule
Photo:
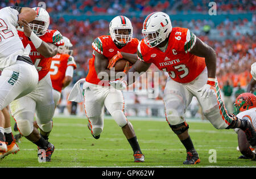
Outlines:
[[[195,56],[204,57],[208,70],[208,78],[216,78],[216,52],[199,38],[196,37],[196,44],[190,53]]]

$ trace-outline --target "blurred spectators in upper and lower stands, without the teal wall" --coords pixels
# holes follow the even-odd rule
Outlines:
[[[38,0],[1,0],[0,8],[14,5],[18,2],[21,6],[35,7]],[[45,0],[47,11],[52,14],[72,14],[72,15],[97,15],[97,14],[123,14],[130,18],[134,37],[141,40],[143,38],[141,29],[143,16],[135,16],[132,12],[142,12],[146,15],[152,11],[164,11],[175,14],[179,11],[206,12],[209,10],[210,1],[181,0],[167,1],[160,0]],[[218,13],[233,12],[255,12],[256,1],[245,0],[216,0]],[[217,78],[221,89],[226,83],[232,88],[245,89],[251,79],[250,65],[256,61],[256,37],[255,25],[256,15],[253,14],[251,21],[247,19],[229,20],[228,16],[222,23],[214,24],[212,20],[191,20],[172,21],[173,27],[189,28],[197,37],[212,46],[217,53]],[[89,59],[92,58],[92,42],[97,36],[109,35],[109,22],[98,19],[94,22],[89,20],[66,21],[64,18],[53,19],[49,29],[58,29],[63,36],[68,37],[73,44],[73,56],[77,62],[77,70],[73,77],[73,83],[81,78],[85,78],[89,70]],[[152,65],[149,71],[158,71]],[[168,74],[159,72],[160,95],[157,99],[162,99],[161,92],[166,84]],[[142,86],[142,80],[134,86]],[[150,82],[151,87],[155,85]]]

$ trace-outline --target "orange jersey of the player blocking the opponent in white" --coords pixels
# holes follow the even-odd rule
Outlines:
[[[38,70],[39,80],[44,78],[49,72],[51,66],[51,59],[42,56],[38,50],[36,50],[32,41],[24,35],[24,32],[18,31],[20,40],[22,40],[23,46],[26,48],[28,44],[31,46],[30,58],[34,63],[36,70]],[[63,36],[57,30],[47,30],[47,32],[39,37],[44,42],[54,44],[56,46],[64,45]]]

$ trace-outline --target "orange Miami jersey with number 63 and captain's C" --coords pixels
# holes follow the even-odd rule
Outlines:
[[[174,27],[169,35],[166,51],[148,47],[144,39],[138,45],[138,58],[154,63],[159,70],[167,71],[179,83],[192,82],[205,69],[205,59],[190,52],[196,36],[187,28]]]

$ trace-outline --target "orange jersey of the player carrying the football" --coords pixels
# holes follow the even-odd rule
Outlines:
[[[93,49],[96,51],[95,53],[100,53],[104,55],[108,60],[110,60],[117,51],[135,54],[137,52],[137,46],[139,44],[138,39],[133,38],[128,44],[123,46],[121,49],[117,48],[114,41],[110,36],[100,36],[97,37],[96,40],[92,43]],[[98,79],[95,67],[94,67],[95,56],[89,61],[89,73],[86,76],[86,82],[99,84],[101,81]],[[104,83],[102,84],[104,86]]]

